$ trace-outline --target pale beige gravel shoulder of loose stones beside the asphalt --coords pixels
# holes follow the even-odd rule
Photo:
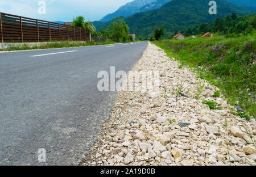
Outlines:
[[[158,70],[159,91],[121,91],[81,165],[255,165],[255,119],[230,113],[235,108],[214,98],[218,88],[207,82],[196,99],[203,81],[179,65],[148,45],[133,70]],[[223,109],[212,110],[204,100]]]

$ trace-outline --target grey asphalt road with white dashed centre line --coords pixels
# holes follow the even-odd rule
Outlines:
[[[147,45],[0,53],[0,165],[78,165],[118,94],[97,90],[98,72],[133,69]]]

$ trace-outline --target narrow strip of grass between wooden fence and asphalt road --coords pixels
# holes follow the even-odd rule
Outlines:
[[[0,49],[0,51],[69,48],[69,47],[82,47],[82,46],[92,46],[92,45],[108,45],[108,44],[114,44],[114,43],[115,42],[113,41],[106,41],[106,42],[100,42],[100,43],[95,43],[94,41],[86,41],[85,43],[63,41],[63,42],[55,42],[55,43],[46,43],[43,45],[35,45],[33,47],[23,44],[21,47],[14,46],[6,49]]]

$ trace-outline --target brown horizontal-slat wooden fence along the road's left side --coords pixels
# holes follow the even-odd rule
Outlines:
[[[13,42],[89,41],[88,29],[0,12],[0,40]]]

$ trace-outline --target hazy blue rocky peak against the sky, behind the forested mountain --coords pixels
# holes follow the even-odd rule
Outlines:
[[[169,2],[171,0],[135,0],[126,5],[119,7],[119,9],[112,14],[108,14],[104,16],[104,18],[100,19],[101,22],[109,22],[110,20],[114,19],[118,16],[130,16],[134,15],[138,12],[144,12],[152,9],[156,9],[162,5],[164,2]],[[159,3],[159,4],[158,4]],[[148,6],[146,6],[148,5]],[[146,7],[144,7],[146,6]]]

